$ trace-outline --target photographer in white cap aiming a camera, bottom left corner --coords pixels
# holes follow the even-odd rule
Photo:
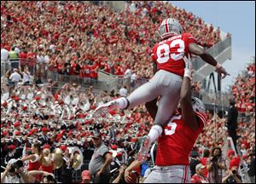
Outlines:
[[[24,183],[23,179],[16,172],[16,170],[19,170],[22,166],[22,162],[20,163],[16,159],[11,159],[4,172],[1,173],[1,183]]]

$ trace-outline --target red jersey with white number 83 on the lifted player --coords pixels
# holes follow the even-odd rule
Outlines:
[[[197,43],[189,33],[169,37],[160,43],[156,43],[152,49],[152,60],[156,62],[158,69],[175,73],[183,77],[183,55],[189,54],[189,43]]]

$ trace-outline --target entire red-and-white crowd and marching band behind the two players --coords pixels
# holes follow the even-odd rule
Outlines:
[[[1,182],[10,182],[9,176],[2,176],[14,173],[21,177],[13,179],[13,182],[72,182],[75,171],[72,147],[79,147],[84,160],[90,160],[96,136],[101,137],[111,152],[123,148],[128,158],[124,160],[122,153],[116,157],[125,164],[131,163],[140,137],[146,135],[153,124],[144,106],[111,112],[108,118],[92,119],[96,106],[120,94],[114,91],[110,94],[107,91],[96,93],[92,86],[83,89],[76,83],[66,83],[60,88],[50,79],[49,83],[31,83],[33,76],[26,60],[31,61],[28,65],[46,63],[49,70],[81,78],[96,79],[100,68],[115,75],[136,73],[137,78],[148,79],[152,72],[145,66],[150,62],[150,48],[157,40],[154,30],[170,14],[181,22],[186,31],[195,35],[202,46],[208,48],[220,41],[218,29],[213,31],[213,27],[204,24],[201,18],[169,3],[131,1],[127,2],[125,12],[117,14],[107,7],[88,2],[2,1],[1,61],[2,49],[6,49],[9,59],[21,58],[21,67],[1,78],[1,166],[5,167],[2,168]],[[131,72],[126,72],[128,69]],[[231,150],[227,155],[221,155],[225,162],[230,163],[222,175],[223,179],[234,167],[239,170],[241,161],[246,166],[244,170],[250,169],[255,159],[254,77],[255,64],[252,64],[248,66],[246,76],[236,78],[232,88],[242,117],[237,129],[242,160],[236,158]],[[14,83],[17,84],[12,85]],[[196,89],[198,91],[199,88]],[[224,147],[228,135],[224,117],[208,111],[207,121],[190,157],[190,160],[199,161],[194,166],[190,165],[190,170],[197,175],[204,168],[202,165],[206,165],[213,156],[212,150]],[[56,153],[56,148],[61,149],[58,151],[65,158],[65,164],[60,168],[56,168],[56,159],[50,157],[54,155],[50,153]],[[207,154],[207,150],[210,153]],[[42,172],[32,172],[31,168],[25,167],[28,172],[24,175],[22,167],[17,166],[19,164],[12,158],[26,158],[35,153],[39,156],[36,170]],[[202,165],[197,166],[200,163]],[[14,164],[15,171],[10,171]],[[76,180],[92,181],[88,168],[82,168],[81,178]],[[143,175],[143,168],[137,172]],[[207,178],[206,169],[204,175]]]

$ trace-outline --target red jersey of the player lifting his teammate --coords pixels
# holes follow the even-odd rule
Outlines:
[[[194,147],[198,135],[207,124],[206,115],[195,112],[200,122],[199,129],[190,129],[182,118],[181,112],[175,112],[164,134],[160,136],[157,144],[155,163],[159,166],[185,164],[189,165],[189,153]]]

